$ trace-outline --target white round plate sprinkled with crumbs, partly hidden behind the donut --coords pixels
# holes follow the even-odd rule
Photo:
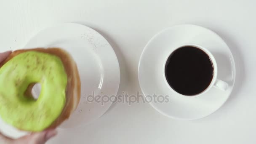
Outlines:
[[[109,109],[112,102],[101,105],[88,102],[92,95],[116,95],[120,82],[117,57],[107,40],[95,30],[81,24],[59,24],[35,35],[24,48],[61,47],[77,63],[81,79],[81,99],[76,111],[61,128],[72,128],[93,122]]]

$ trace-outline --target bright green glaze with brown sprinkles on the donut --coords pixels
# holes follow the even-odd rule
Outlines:
[[[37,100],[28,90],[40,83]],[[0,68],[0,117],[24,131],[43,131],[66,103],[67,74],[61,59],[37,51],[20,53]]]

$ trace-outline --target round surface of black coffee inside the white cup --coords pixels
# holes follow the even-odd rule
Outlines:
[[[203,92],[213,79],[213,65],[208,54],[193,46],[175,50],[165,64],[166,79],[176,92],[193,96]]]

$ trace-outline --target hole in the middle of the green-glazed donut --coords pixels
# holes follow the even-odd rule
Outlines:
[[[25,91],[25,96],[30,99],[34,99],[36,101],[40,93],[41,93],[40,83],[31,83],[29,84],[29,86],[27,87],[27,90]]]

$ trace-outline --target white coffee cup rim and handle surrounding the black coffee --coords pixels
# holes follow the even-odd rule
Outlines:
[[[210,51],[208,51],[206,48],[203,48],[202,46],[200,45],[196,45],[196,44],[185,44],[185,45],[181,45],[175,49],[173,49],[173,51],[181,48],[181,47],[185,47],[185,46],[192,46],[192,47],[196,47],[196,48],[199,48],[201,49],[202,51],[204,51],[208,56],[209,58],[211,59],[211,62],[212,62],[212,65],[213,65],[213,78],[211,80],[211,83],[210,85],[204,90],[202,91],[201,93],[198,93],[196,95],[192,95],[192,96],[189,96],[189,97],[195,97],[195,96],[200,96],[202,95],[203,93],[206,93],[207,91],[209,91],[212,87],[216,87],[216,88],[219,88],[220,90],[222,91],[226,91],[227,88],[229,87],[229,85],[224,82],[223,80],[219,80],[217,79],[217,74],[218,74],[218,67],[217,67],[217,63],[216,63],[216,60],[213,56],[213,54],[211,54]],[[187,96],[187,95],[183,95],[181,93],[178,93],[176,92],[173,88],[171,88],[171,86],[169,85],[168,81],[167,81],[167,78],[165,76],[165,65],[166,65],[166,61],[168,60],[169,56],[171,55],[171,53],[173,53],[173,51],[171,51],[168,56],[165,58],[165,61],[164,61],[164,64],[163,64],[163,76],[164,76],[164,80],[165,80],[165,83],[166,85],[168,85],[168,87],[174,91],[175,93],[177,93],[178,95],[181,95],[181,96]]]

